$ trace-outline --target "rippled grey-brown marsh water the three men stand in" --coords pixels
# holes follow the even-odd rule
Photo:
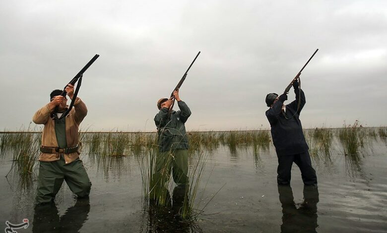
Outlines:
[[[23,189],[16,175],[4,177],[12,164],[8,152],[0,160],[0,228],[6,228],[5,221],[28,219],[27,229],[15,231],[387,232],[387,145],[379,139],[372,144],[357,157],[344,156],[338,143],[329,157],[313,157],[318,189],[304,188],[296,165],[291,186],[278,187],[272,147],[258,154],[227,147],[207,153],[195,201],[198,209],[205,208],[194,223],[168,213],[150,218],[142,202],[139,156],[102,161],[82,155],[92,181],[90,199],[77,201],[64,183],[56,205],[39,209],[33,204],[36,180]]]

